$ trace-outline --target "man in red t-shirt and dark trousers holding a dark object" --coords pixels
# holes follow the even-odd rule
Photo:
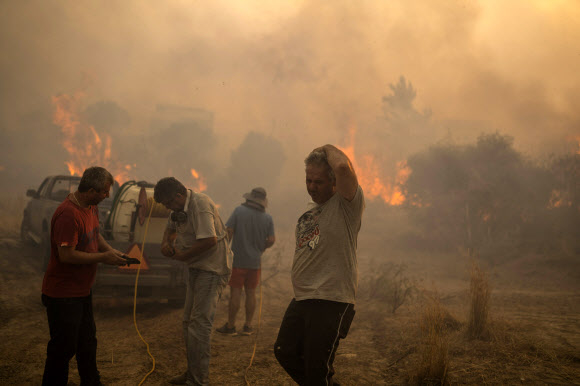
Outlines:
[[[69,361],[76,355],[82,385],[100,385],[91,287],[97,263],[124,265],[123,253],[99,233],[97,204],[114,183],[106,169],[86,169],[76,192],[54,212],[50,224],[50,260],[42,281],[50,341],[43,385],[66,385]]]

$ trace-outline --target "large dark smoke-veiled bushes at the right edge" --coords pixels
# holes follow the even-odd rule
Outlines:
[[[406,238],[415,246],[492,260],[580,251],[580,155],[541,163],[493,133],[431,146],[408,165],[405,208],[415,231]]]

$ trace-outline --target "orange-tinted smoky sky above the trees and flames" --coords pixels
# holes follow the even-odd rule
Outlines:
[[[148,134],[159,104],[211,111],[217,169],[248,133],[271,136],[292,185],[308,151],[352,127],[373,142],[401,76],[440,129],[430,140],[497,130],[542,153],[580,135],[574,0],[263,3],[2,2],[0,173],[66,171],[62,149],[40,146],[60,135],[51,97],[79,90],[124,109],[126,136]]]

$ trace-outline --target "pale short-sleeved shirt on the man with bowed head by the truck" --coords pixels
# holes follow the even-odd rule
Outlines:
[[[227,275],[232,271],[233,253],[226,237],[226,229],[218,209],[211,198],[203,193],[188,190],[184,212],[187,213],[185,223],[167,222],[167,228],[177,232],[175,247],[178,250],[191,248],[195,240],[217,237],[217,245],[201,255],[195,256],[186,263],[189,268],[215,272]]]

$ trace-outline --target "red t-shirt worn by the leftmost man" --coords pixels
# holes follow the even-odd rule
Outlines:
[[[42,293],[55,298],[88,296],[95,282],[97,264],[62,263],[58,246],[77,251],[99,251],[99,214],[96,205],[81,208],[68,198],[58,206],[50,223],[50,260],[42,281]]]

